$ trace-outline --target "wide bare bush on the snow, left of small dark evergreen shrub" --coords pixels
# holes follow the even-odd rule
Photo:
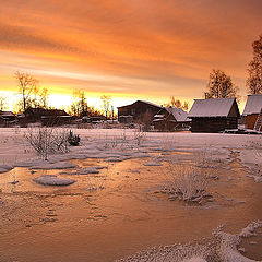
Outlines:
[[[66,130],[55,131],[48,128],[27,129],[25,139],[45,160],[48,159],[50,154],[69,152],[68,132]]]

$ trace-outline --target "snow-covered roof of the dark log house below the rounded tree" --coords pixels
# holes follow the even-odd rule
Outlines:
[[[227,117],[235,100],[236,98],[195,99],[188,117]]]

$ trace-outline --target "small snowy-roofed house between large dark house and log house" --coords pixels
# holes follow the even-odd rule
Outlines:
[[[159,131],[182,130],[190,127],[191,120],[182,108],[163,107],[153,120],[154,129]]]

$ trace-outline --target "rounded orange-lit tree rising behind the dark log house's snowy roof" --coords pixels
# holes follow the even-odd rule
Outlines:
[[[238,87],[233,83],[231,78],[219,69],[213,69],[210,73],[207,92],[205,98],[236,97]]]

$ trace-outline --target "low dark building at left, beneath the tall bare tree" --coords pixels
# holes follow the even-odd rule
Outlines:
[[[45,109],[45,108],[27,108],[23,118],[23,122],[41,122],[44,126],[59,126],[71,123],[72,117],[61,109]]]

